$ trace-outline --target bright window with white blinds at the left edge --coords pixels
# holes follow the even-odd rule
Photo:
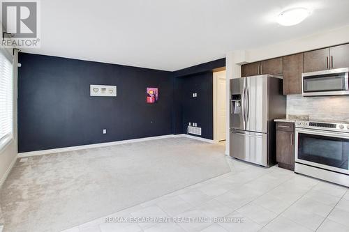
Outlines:
[[[13,137],[13,68],[0,52],[0,146]]]

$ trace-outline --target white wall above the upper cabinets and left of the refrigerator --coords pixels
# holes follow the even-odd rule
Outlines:
[[[258,35],[256,35],[258,36]],[[272,35],[271,35],[272,36]],[[258,38],[258,37],[257,37]],[[244,51],[232,51],[226,55],[226,70],[227,70],[227,109],[230,105],[229,82],[230,79],[241,77],[240,65],[253,61],[261,61],[278,56],[285,56],[295,54],[298,52],[305,52],[322,47],[330,47],[349,42],[349,25],[341,28],[332,29],[330,31],[323,31],[311,36],[297,38],[295,40],[288,40],[279,42],[274,45],[265,47],[257,47],[255,49],[246,49]],[[229,155],[229,114],[227,110],[227,151]]]

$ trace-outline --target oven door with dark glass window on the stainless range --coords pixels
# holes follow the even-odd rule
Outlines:
[[[295,162],[349,175],[349,134],[296,128]]]

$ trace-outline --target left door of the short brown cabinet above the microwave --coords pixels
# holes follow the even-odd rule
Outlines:
[[[329,49],[304,52],[304,72],[316,72],[329,69]]]

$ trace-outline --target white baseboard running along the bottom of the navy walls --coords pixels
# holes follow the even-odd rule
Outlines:
[[[139,142],[139,141],[149,141],[149,140],[154,140],[154,139],[165,139],[165,138],[173,138],[173,137],[187,137],[190,139],[197,139],[197,140],[205,141],[208,143],[214,143],[214,141],[211,139],[204,139],[201,137],[196,137],[196,136],[188,135],[188,134],[176,134],[176,135],[168,134],[168,135],[161,135],[161,136],[156,136],[156,137],[146,137],[146,138],[141,138],[141,139],[128,139],[128,140],[113,141],[113,142],[101,143],[101,144],[88,144],[88,145],[82,145],[82,146],[69,146],[66,148],[34,150],[34,151],[26,152],[26,153],[18,153],[18,157],[29,157],[29,156],[35,156],[35,155],[52,154],[52,153],[63,153],[63,152],[72,151],[72,150],[82,150],[82,149],[87,149],[87,148],[101,148],[103,146],[114,146],[114,145],[118,145],[118,144],[129,144],[129,143],[135,143],[135,142]]]

